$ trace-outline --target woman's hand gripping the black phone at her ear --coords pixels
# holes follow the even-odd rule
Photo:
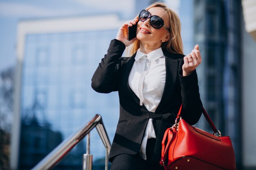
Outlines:
[[[133,38],[132,40],[128,41],[128,26],[135,25],[136,22],[138,22],[139,19],[136,18],[134,20],[126,21],[118,30],[116,39],[123,42],[125,46],[130,46],[133,44],[137,38]]]

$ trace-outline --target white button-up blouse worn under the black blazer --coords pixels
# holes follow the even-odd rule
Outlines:
[[[164,92],[166,77],[165,56],[162,48],[144,54],[138,49],[129,75],[129,86],[140,100],[140,105],[155,112]],[[146,160],[147,140],[155,137],[152,119],[149,119],[139,154]]]

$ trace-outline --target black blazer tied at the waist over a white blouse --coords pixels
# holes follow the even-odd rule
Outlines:
[[[99,93],[118,91],[120,115],[117,130],[110,149],[109,160],[119,154],[135,155],[139,152],[144,131],[149,118],[153,118],[156,146],[153,161],[159,163],[161,158],[162,138],[166,128],[174,124],[175,117],[183,104],[182,118],[193,125],[200,119],[202,102],[200,100],[196,71],[182,76],[182,54],[163,50],[166,61],[166,82],[162,99],[155,110],[149,112],[139,105],[139,98],[129,86],[128,77],[135,55],[121,57],[125,50],[124,43],[112,40],[108,53],[99,63],[92,77],[92,88]]]

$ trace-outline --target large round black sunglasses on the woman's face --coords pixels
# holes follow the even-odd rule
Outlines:
[[[144,22],[146,21],[148,18],[150,18],[150,25],[155,28],[155,29],[160,29],[162,26],[169,30],[169,28],[167,28],[165,25],[164,25],[164,20],[157,16],[157,15],[153,15],[153,16],[150,16],[150,12],[143,9],[140,13],[139,13],[139,20]]]

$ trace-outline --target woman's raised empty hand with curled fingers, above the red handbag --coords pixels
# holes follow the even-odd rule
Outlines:
[[[195,68],[202,62],[199,46],[195,45],[194,49],[186,55],[184,58],[184,64],[182,66],[183,76],[191,75]]]

